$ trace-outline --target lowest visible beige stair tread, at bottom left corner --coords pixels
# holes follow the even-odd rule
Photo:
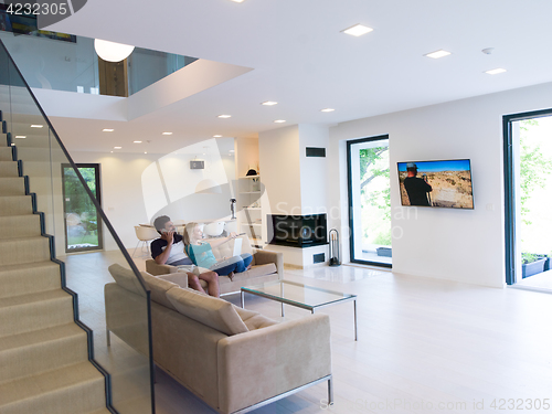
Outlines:
[[[96,381],[104,381],[104,375],[86,361],[7,382],[0,385],[0,412],[2,405]]]

